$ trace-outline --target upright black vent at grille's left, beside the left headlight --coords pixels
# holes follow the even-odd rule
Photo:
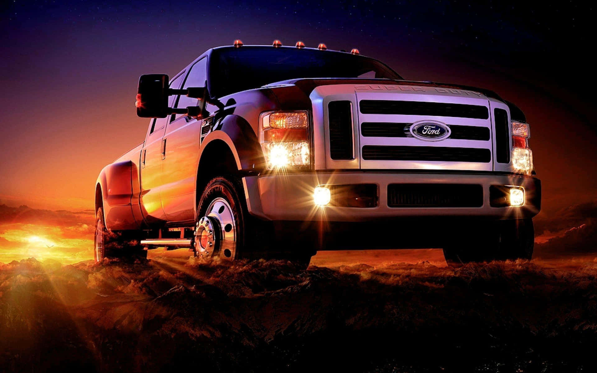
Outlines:
[[[336,161],[354,159],[352,131],[352,103],[331,101],[328,104],[330,118],[330,156]]]

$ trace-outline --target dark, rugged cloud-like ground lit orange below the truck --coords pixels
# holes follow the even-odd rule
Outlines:
[[[0,264],[0,371],[595,371],[592,257],[313,263]]]

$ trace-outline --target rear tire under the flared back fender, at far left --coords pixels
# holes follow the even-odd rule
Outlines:
[[[96,212],[96,233],[93,241],[93,254],[96,263],[109,259],[146,259],[147,251],[139,245],[136,232],[112,232],[106,229],[103,208]]]

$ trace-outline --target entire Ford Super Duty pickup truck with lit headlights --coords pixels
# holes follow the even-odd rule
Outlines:
[[[324,44],[212,48],[141,75],[142,143],[95,187],[95,260],[442,248],[530,259],[541,183],[524,113],[490,90],[408,81]]]

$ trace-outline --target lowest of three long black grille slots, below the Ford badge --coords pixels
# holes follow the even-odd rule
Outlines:
[[[473,147],[365,145],[362,158],[372,161],[491,162],[491,150]]]

